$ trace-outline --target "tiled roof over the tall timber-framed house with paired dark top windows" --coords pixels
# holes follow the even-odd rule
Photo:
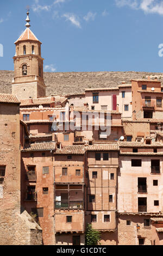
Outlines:
[[[95,151],[95,150],[109,150],[109,151],[117,151],[119,150],[117,143],[108,143],[108,144],[93,144],[87,147],[87,151]]]

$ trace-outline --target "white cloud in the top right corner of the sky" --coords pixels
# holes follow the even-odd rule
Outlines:
[[[163,0],[115,0],[117,7],[128,5],[133,9],[140,9],[147,14],[163,15]]]

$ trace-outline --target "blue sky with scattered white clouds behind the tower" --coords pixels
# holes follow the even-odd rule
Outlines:
[[[161,0],[5,0],[0,4],[0,70],[14,70],[14,41],[30,29],[44,70],[163,72]]]

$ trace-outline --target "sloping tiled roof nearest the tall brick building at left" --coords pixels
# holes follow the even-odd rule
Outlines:
[[[41,151],[41,150],[54,150],[55,142],[41,142],[30,144],[29,147],[22,149],[22,151]]]

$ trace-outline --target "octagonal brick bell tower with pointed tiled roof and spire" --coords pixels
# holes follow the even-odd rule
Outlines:
[[[26,30],[15,42],[14,78],[12,94],[19,100],[45,97],[46,86],[43,80],[43,58],[41,42],[30,30],[29,11],[27,11]]]

